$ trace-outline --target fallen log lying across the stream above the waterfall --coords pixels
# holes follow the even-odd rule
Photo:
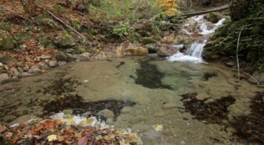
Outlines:
[[[229,9],[229,8],[230,8],[230,5],[228,4],[228,5],[225,5],[225,6],[221,6],[221,7],[210,9],[210,10],[206,10],[206,11],[201,11],[201,12],[196,12],[196,13],[189,13],[189,14],[182,14],[182,15],[180,15],[180,17],[181,18],[189,18],[189,17],[193,17],[193,16],[197,16],[197,15],[207,14],[207,13],[210,13],[210,12],[222,11],[222,10],[226,10],[226,9]],[[170,16],[170,17],[168,17],[168,19],[174,18],[174,17],[178,17],[178,16],[177,15]]]

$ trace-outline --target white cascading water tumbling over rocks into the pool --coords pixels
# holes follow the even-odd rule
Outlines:
[[[223,23],[223,21],[225,20],[225,18],[222,18],[218,21],[218,23],[214,24],[214,27],[209,29],[208,26],[206,25],[206,23],[204,21],[202,21],[203,19],[203,15],[198,16],[198,17],[192,17],[194,20],[198,21],[198,25],[199,28],[201,30],[201,32],[199,32],[198,34],[201,35],[209,35],[215,32],[215,30]],[[189,26],[190,24],[185,24],[185,26]],[[192,33],[188,32],[187,30],[183,29],[183,31],[186,32],[186,34],[190,35]],[[204,61],[202,60],[201,54],[202,54],[202,50],[203,47],[205,46],[207,40],[203,40],[202,42],[199,42],[198,40],[196,42],[194,42],[186,51],[186,54],[184,55],[183,53],[177,52],[176,54],[173,54],[172,56],[167,57],[168,61],[181,61],[181,62],[192,62],[192,63],[204,63]],[[181,46],[183,47],[183,44],[179,44],[179,45],[175,45],[175,47],[177,46]]]

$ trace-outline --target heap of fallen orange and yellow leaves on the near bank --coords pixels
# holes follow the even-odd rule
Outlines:
[[[16,145],[137,145],[133,133],[113,128],[66,126],[61,120],[44,119],[16,127],[0,126],[6,144]]]

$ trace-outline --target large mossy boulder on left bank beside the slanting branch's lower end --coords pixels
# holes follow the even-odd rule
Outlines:
[[[59,48],[71,48],[76,46],[76,41],[75,39],[68,35],[68,34],[64,34],[63,35],[64,38],[59,38],[57,40],[54,41],[54,43],[59,47]]]

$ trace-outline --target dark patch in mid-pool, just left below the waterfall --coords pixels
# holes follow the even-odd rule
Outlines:
[[[174,90],[170,85],[162,84],[161,79],[164,78],[164,72],[157,69],[157,65],[149,62],[154,58],[144,58],[139,60],[140,69],[136,70],[137,78],[134,78],[135,84],[142,85],[150,89],[168,89]]]

